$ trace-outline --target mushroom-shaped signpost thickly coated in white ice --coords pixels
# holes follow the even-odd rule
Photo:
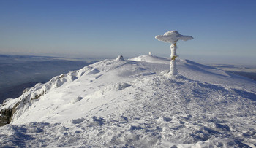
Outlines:
[[[176,43],[179,39],[187,41],[189,39],[194,39],[192,36],[183,36],[178,33],[178,31],[167,31],[164,35],[158,35],[155,37],[159,41],[170,43],[170,74],[176,75],[178,74],[176,68],[176,60],[175,58],[178,57],[176,54],[177,46]]]

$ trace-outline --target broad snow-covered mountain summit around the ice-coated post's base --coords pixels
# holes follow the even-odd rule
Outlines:
[[[100,61],[0,107],[2,147],[256,147],[256,83],[153,55]]]

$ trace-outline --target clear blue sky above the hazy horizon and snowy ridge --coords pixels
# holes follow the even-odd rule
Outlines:
[[[124,58],[170,44],[154,36],[176,30],[180,58],[256,63],[256,1],[0,0],[0,54]],[[239,59],[239,60],[238,60]]]

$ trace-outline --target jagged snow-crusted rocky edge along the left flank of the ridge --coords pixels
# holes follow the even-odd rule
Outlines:
[[[6,99],[3,104],[0,104],[0,126],[4,126],[12,122],[16,115],[19,117],[22,113],[15,114],[17,109],[22,109],[26,104],[30,106],[34,101],[37,101],[48,93],[49,90],[56,89],[61,87],[61,85],[64,85],[64,83],[69,83],[78,79],[78,77],[82,76],[87,70],[90,70],[90,68],[85,67],[78,71],[70,71],[68,74],[61,74],[53,77],[45,84],[37,83],[34,87],[26,88],[23,90],[23,94],[19,98],[15,98],[15,101],[12,99]],[[15,117],[13,117],[14,114]]]

